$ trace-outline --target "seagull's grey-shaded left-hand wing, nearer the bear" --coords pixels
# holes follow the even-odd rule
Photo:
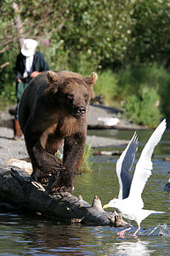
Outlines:
[[[132,182],[132,176],[129,173],[133,166],[136,151],[138,149],[138,137],[134,133],[127,148],[122,152],[120,158],[116,162],[116,174],[119,182],[119,199],[127,198]]]

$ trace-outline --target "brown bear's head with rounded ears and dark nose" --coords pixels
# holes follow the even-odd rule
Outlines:
[[[86,116],[97,79],[98,75],[94,72],[83,78],[79,73],[48,71],[49,86],[46,91],[54,96],[61,108],[65,108],[76,119],[81,119]]]

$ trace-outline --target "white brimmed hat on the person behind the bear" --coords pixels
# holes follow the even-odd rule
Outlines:
[[[21,48],[21,53],[26,57],[31,57],[35,54],[37,48],[37,41],[33,39],[25,39]]]

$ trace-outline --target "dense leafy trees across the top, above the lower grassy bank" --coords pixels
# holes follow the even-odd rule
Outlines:
[[[77,72],[82,56],[93,69],[167,58],[170,0],[17,0],[18,13],[13,3],[1,3],[0,52],[16,47],[20,16],[24,37],[49,40],[42,53],[51,67]]]

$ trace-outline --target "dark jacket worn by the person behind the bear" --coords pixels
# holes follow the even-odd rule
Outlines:
[[[26,56],[22,55],[21,52],[17,56],[16,65],[14,67],[14,71],[16,73],[16,79],[23,79],[23,74],[25,73],[25,67],[26,67]],[[32,63],[32,72],[38,71],[48,71],[48,63],[45,61],[43,55],[41,52],[36,51],[33,63]]]

